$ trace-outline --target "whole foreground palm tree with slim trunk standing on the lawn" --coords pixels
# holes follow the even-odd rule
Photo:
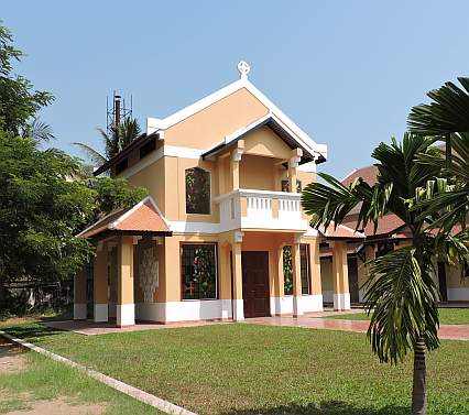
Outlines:
[[[373,310],[368,339],[381,362],[396,364],[407,352],[414,352],[413,414],[426,413],[426,350],[439,346],[438,309],[432,279],[435,238],[422,209],[410,210],[407,200],[439,176],[440,166],[417,163],[418,154],[436,154],[434,139],[404,134],[402,144],[395,139],[381,143],[372,156],[377,160],[378,178],[373,186],[361,177],[349,187],[327,174],[318,174],[326,183],[312,183],[302,195],[303,207],[310,225],[328,227],[343,221],[359,206],[357,229],[368,222],[378,225],[386,212],[400,217],[412,233],[412,245],[396,248],[371,262],[366,284],[366,307]]]

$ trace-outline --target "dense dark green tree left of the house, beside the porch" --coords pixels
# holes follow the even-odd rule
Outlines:
[[[67,177],[77,160],[0,130],[0,303],[3,283],[69,277],[90,245],[75,238],[94,208],[90,188]]]

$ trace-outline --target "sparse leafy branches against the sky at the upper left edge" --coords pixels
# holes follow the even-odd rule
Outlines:
[[[54,97],[50,92],[33,90],[30,80],[12,74],[13,62],[20,62],[23,56],[12,42],[10,31],[0,21],[0,128],[19,135],[30,128],[31,119]]]

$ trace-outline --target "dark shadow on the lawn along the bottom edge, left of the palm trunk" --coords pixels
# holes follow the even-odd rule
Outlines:
[[[222,415],[407,415],[406,406],[389,405],[381,409],[358,407],[340,401],[324,401],[319,404],[284,405],[272,408],[233,409],[223,412]]]

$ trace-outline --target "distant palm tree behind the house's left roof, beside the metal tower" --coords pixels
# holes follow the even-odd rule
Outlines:
[[[98,132],[105,143],[103,154],[85,143],[73,144],[80,148],[92,165],[99,166],[112,159],[116,154],[122,151],[126,145],[135,140],[141,134],[141,131],[142,130],[137,119],[128,117],[123,122],[112,125],[110,128],[110,134],[108,134],[103,129],[98,128]]]

